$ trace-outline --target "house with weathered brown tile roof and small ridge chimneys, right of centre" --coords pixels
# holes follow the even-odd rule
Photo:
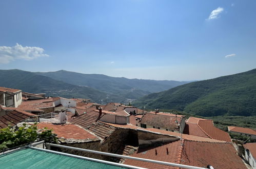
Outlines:
[[[158,111],[149,112],[145,113],[141,117],[139,125],[145,129],[155,128],[171,132],[183,133],[185,128],[185,116]]]

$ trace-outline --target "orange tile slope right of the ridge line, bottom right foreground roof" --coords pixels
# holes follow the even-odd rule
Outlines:
[[[214,168],[247,168],[232,143],[184,141],[181,164]]]

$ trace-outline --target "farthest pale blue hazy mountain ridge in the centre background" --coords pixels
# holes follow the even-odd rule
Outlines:
[[[101,74],[83,74],[65,70],[36,73],[73,85],[88,86],[110,93],[122,90],[141,90],[150,93],[160,92],[187,83],[186,81],[173,80],[128,79],[124,77],[110,77]]]

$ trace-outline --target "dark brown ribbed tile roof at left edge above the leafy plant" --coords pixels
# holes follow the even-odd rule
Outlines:
[[[34,114],[24,112],[24,111],[7,111],[6,115],[3,115],[0,117],[0,129],[6,128],[9,124],[11,126],[14,126],[20,122],[25,121],[26,119],[30,117],[34,117]]]

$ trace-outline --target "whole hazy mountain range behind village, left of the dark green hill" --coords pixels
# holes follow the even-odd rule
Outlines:
[[[99,103],[125,103],[187,83],[173,80],[128,79],[65,70],[46,73],[16,69],[0,70],[0,78],[0,86],[3,87],[31,93],[46,93],[48,96],[89,98]]]

